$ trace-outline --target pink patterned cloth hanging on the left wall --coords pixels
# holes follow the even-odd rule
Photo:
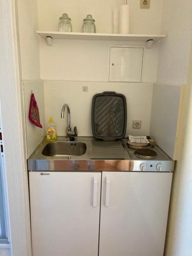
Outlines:
[[[30,107],[29,107],[29,121],[34,125],[36,125],[37,127],[42,128],[42,125],[40,124],[40,118],[39,118],[39,109],[33,93],[31,94],[31,101],[30,101]]]

